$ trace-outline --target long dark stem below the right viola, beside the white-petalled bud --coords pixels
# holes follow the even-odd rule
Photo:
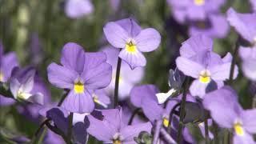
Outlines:
[[[178,143],[182,143],[182,129],[183,129],[183,119],[185,118],[185,105],[186,105],[186,92],[189,87],[190,79],[186,78],[186,83],[184,86],[184,91],[182,94],[182,104],[181,104],[181,113],[179,115],[178,122]]]

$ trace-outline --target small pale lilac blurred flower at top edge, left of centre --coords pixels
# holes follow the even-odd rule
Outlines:
[[[90,0],[66,0],[65,12],[70,18],[82,18],[94,11]]]

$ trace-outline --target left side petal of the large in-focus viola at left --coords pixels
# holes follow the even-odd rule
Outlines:
[[[74,80],[78,78],[78,73],[74,70],[51,63],[47,68],[48,80],[59,88],[72,89]]]

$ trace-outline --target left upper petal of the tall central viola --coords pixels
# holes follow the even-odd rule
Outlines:
[[[108,22],[103,28],[106,39],[116,48],[125,48],[129,35],[116,22]]]

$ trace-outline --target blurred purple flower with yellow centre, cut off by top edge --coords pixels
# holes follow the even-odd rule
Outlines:
[[[184,23],[186,20],[205,20],[208,14],[218,12],[225,0],[167,0],[172,7],[174,18]]]

